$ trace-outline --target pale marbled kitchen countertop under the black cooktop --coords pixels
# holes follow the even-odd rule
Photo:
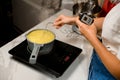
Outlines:
[[[72,33],[72,26],[70,25],[64,25],[60,29],[53,27],[50,23],[53,22],[60,14],[72,15],[72,11],[62,9],[55,15],[29,29],[0,48],[0,80],[87,80],[92,46],[82,35],[78,35],[75,32]],[[47,29],[56,34],[57,40],[83,49],[82,53],[59,78],[53,78],[28,67],[25,64],[12,59],[12,55],[8,53],[9,50],[26,39],[25,35],[29,31],[33,29],[43,29],[46,26]]]

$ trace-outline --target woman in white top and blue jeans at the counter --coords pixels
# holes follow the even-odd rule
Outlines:
[[[120,80],[120,3],[107,16],[95,18],[86,25],[79,17],[60,15],[54,22],[56,28],[76,24],[80,32],[94,47],[89,69],[89,80]],[[102,30],[100,41],[97,33]]]

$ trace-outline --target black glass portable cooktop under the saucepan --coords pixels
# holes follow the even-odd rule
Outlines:
[[[27,40],[9,51],[13,58],[17,58],[35,68],[42,68],[56,77],[60,77],[81,52],[82,49],[80,48],[55,40],[53,49],[49,54],[40,55],[36,64],[29,64],[31,53],[28,50]]]

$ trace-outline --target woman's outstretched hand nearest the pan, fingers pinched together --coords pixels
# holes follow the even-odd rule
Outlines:
[[[64,24],[69,24],[72,25],[75,23],[76,18],[79,17],[70,17],[70,16],[65,16],[65,15],[60,15],[55,21],[54,21],[54,26],[56,28],[62,27]]]

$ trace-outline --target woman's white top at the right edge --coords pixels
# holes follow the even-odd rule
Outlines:
[[[120,60],[120,3],[105,17],[102,41],[107,49]]]

